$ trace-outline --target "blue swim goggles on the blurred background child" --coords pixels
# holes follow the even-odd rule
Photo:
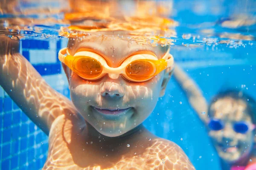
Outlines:
[[[221,121],[220,119],[210,119],[208,122],[208,127],[211,130],[218,131],[218,130],[224,129],[225,126],[224,126],[224,122]],[[248,132],[248,130],[253,130],[253,129],[255,129],[255,125],[249,124],[247,122],[241,121],[241,122],[235,122],[233,124],[233,130],[236,133],[245,134]]]

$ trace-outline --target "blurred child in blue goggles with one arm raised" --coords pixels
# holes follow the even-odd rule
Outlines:
[[[207,127],[222,170],[256,170],[256,102],[238,90],[221,91],[207,104],[196,83],[175,65],[174,77]]]

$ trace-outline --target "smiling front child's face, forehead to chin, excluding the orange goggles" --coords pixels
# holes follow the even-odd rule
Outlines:
[[[81,48],[100,54],[113,68],[138,51],[151,51],[158,59],[167,51],[165,47],[137,45],[135,42],[128,44],[119,38],[92,37],[69,41],[71,55]],[[172,73],[171,69],[162,71],[146,82],[129,82],[115,74],[88,81],[65,65],[64,70],[68,75],[74,105],[84,119],[105,136],[120,136],[140,125],[153,111]]]

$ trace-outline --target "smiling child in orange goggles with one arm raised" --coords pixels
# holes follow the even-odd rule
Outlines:
[[[0,85],[49,136],[43,169],[194,170],[177,144],[142,125],[172,75],[169,46],[99,34],[69,38],[59,52],[72,102],[19,53],[18,37],[0,37]]]

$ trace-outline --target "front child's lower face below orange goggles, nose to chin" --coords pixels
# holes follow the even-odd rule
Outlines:
[[[122,77],[110,79],[108,75],[98,81],[88,81],[81,79],[73,72],[70,72],[70,74],[72,75],[69,76],[70,82],[72,82],[70,85],[71,99],[75,106],[81,115],[99,132],[103,134],[108,132],[107,136],[119,136],[140,125],[151,113],[157,102],[157,97],[153,95],[158,96],[159,89],[155,89],[154,85],[157,85],[158,81],[163,81],[161,74],[147,83],[128,82]],[[153,89],[155,94],[153,94]],[[111,94],[111,96],[117,93],[118,96],[106,96],[105,93]],[[151,107],[145,109],[148,104]],[[99,110],[129,109],[125,113],[106,115],[93,109],[94,107]],[[145,113],[141,113],[142,111]]]

